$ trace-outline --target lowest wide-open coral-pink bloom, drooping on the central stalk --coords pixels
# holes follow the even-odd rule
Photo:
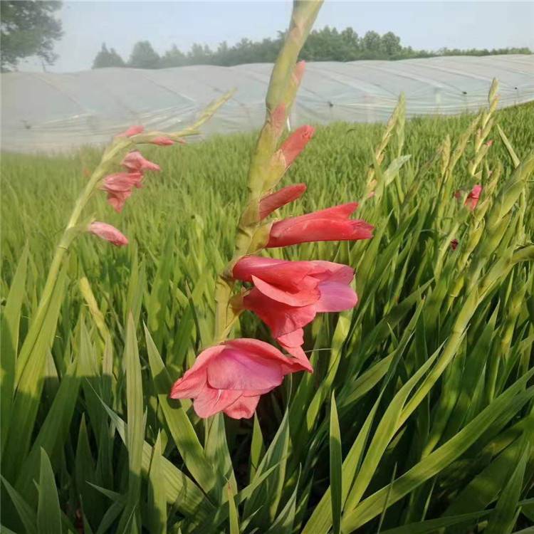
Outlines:
[[[174,382],[170,397],[194,399],[199,417],[224,412],[234,419],[248,419],[262,394],[279,386],[285,375],[303,370],[298,360],[266,342],[230,340],[203,350],[193,367]]]

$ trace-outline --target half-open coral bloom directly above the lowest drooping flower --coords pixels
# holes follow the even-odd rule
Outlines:
[[[358,301],[350,287],[354,270],[340,263],[245,256],[234,266],[233,275],[254,284],[244,297],[244,307],[256,313],[295,357],[303,344],[302,329],[315,315],[350,310]]]

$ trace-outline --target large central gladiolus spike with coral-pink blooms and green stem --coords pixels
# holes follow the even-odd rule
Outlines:
[[[311,22],[311,18],[300,21],[299,31],[291,34],[295,46],[303,45],[305,30],[310,28]],[[271,189],[315,132],[312,126],[302,126],[278,149],[274,146],[283,131],[286,112],[293,104],[304,71],[303,62],[290,64],[284,54],[277,63],[280,72],[277,68],[273,70],[268,90],[270,113],[253,152],[248,174],[248,203],[239,221],[234,256],[216,283],[216,345],[201,352],[191,369],[174,382],[170,392],[174,399],[192,398],[199,417],[219,412],[235,419],[252,417],[261,395],[278,387],[285,375],[313,372],[303,350],[305,325],[318,313],[350,310],[358,301],[350,286],[354,278],[350,266],[330,261],[285,261],[251,255],[261,248],[372,237],[373,226],[366,221],[350,219],[358,206],[355,202],[273,223],[262,222],[305,192],[305,184],[289,185],[274,192]],[[284,78],[290,78],[290,86],[280,96],[280,90],[273,90],[273,87]],[[267,169],[266,162],[270,162]],[[244,288],[233,295],[236,281],[241,281]],[[225,341],[242,310],[256,313],[288,355],[259,340]]]

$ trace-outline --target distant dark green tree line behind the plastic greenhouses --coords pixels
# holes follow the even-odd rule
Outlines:
[[[278,32],[276,38],[251,41],[243,38],[234,46],[226,41],[216,50],[207,45],[194,43],[186,53],[173,45],[161,56],[152,47],[150,41],[135,43],[127,61],[103,43],[93,61],[93,68],[132,67],[132,68],[168,68],[187,65],[233,66],[244,63],[273,63],[283,42],[284,33]],[[414,50],[411,46],[402,46],[399,36],[391,31],[380,35],[376,31],[367,31],[359,36],[352,28],[337,31],[325,26],[310,32],[300,53],[300,59],[306,61],[357,61],[362,59],[398,60],[409,58],[430,58],[433,56],[488,56],[491,54],[531,53],[529,48],[441,48],[439,51]]]

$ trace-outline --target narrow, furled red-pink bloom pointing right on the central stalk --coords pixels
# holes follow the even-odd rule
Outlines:
[[[362,219],[349,219],[357,202],[341,204],[307,215],[276,221],[267,246],[289,246],[310,241],[357,241],[370,239],[375,228]]]

